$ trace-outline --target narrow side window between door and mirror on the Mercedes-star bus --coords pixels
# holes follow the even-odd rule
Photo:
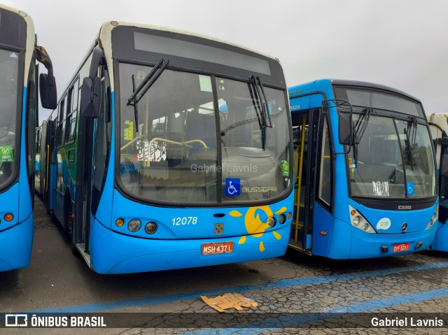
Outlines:
[[[327,118],[323,118],[323,130],[321,134],[322,145],[320,152],[320,171],[318,197],[323,203],[330,208],[332,199],[332,159],[330,151],[330,131],[328,129]]]

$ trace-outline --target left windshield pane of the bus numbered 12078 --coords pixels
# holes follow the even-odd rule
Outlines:
[[[127,106],[132,75],[138,87],[151,70],[120,64],[121,181],[148,200],[216,201],[211,77],[165,70],[137,104],[137,126],[134,108]]]

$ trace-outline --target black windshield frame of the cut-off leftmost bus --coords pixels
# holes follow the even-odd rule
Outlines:
[[[22,152],[21,141],[22,138],[22,118],[24,117],[23,106],[24,100],[27,99],[24,93],[24,80],[25,80],[25,49],[23,48],[15,48],[11,45],[4,45],[0,43],[0,49],[10,51],[10,52],[18,52],[18,94],[17,94],[17,105],[15,108],[15,148],[14,148],[14,168],[11,171],[11,175],[8,179],[6,179],[2,184],[0,184],[0,192],[5,192],[10,187],[15,185],[20,176],[20,155]],[[32,65],[32,64],[31,64]],[[28,87],[27,87],[28,88]],[[24,139],[25,141],[25,139]],[[26,169],[26,166],[24,167]]]

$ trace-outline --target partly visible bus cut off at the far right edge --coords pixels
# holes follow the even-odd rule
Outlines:
[[[429,127],[435,145],[437,175],[439,176],[439,215],[437,233],[431,250],[448,251],[448,115],[431,114],[428,117]],[[442,169],[442,163],[445,166]]]

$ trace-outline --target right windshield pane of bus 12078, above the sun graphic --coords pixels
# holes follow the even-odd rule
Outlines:
[[[259,97],[257,88],[251,84],[216,78],[216,85],[223,155],[223,201],[276,197],[288,186],[289,176],[289,127],[284,92],[265,87],[267,110],[263,115],[260,87]],[[260,127],[263,121],[269,123],[266,113],[269,113],[272,127]],[[235,184],[239,185],[239,191],[232,188]]]

